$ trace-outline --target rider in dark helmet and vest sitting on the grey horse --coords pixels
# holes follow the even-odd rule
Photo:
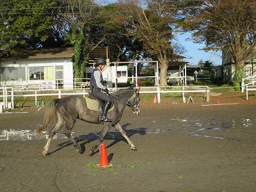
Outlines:
[[[108,88],[105,88],[102,78],[102,70],[106,67],[106,59],[99,58],[94,65],[93,73],[91,76],[91,85],[90,89],[92,90],[92,95],[97,97],[97,99],[102,100],[104,102],[102,115],[100,116],[100,121],[102,122],[112,122],[107,114],[108,110],[111,107],[112,98],[109,96]],[[104,93],[105,92],[105,93]]]

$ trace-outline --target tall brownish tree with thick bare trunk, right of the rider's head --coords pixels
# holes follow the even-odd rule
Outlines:
[[[141,42],[143,50],[159,61],[161,86],[166,86],[166,72],[175,58],[172,39],[178,4],[151,0],[147,1],[147,9],[143,9],[140,0],[120,0],[118,3],[127,36]]]

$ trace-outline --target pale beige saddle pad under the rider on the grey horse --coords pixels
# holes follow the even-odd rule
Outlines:
[[[88,109],[92,111],[102,112],[102,107],[104,106],[104,103],[101,100],[94,97],[92,93],[89,93],[89,96],[85,97],[85,101]],[[114,108],[114,104],[111,104],[111,108],[108,111],[113,111]]]

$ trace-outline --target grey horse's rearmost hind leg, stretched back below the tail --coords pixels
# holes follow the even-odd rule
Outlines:
[[[57,115],[57,122],[56,124],[54,125],[54,127],[52,128],[52,130],[49,132],[49,138],[47,140],[47,143],[44,147],[44,150],[43,150],[43,156],[46,156],[47,153],[48,153],[48,150],[49,150],[49,147],[50,147],[50,143],[51,143],[51,140],[53,138],[53,136],[58,132],[60,131],[60,129],[65,125],[65,121],[63,120],[63,118],[61,118],[60,114]]]

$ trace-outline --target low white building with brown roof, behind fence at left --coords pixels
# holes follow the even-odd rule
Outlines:
[[[73,49],[35,49],[0,58],[1,86],[73,88]]]

